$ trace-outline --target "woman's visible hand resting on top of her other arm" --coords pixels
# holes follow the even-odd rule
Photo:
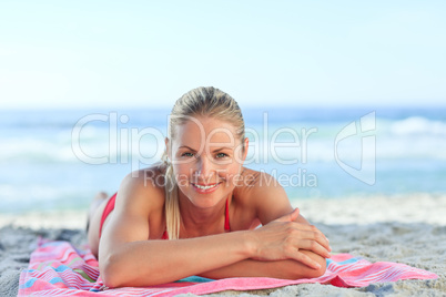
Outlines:
[[[252,231],[254,237],[255,259],[280,260],[294,259],[318,269],[320,265],[301,249],[311,250],[324,258],[330,258],[332,248],[328,239],[315,226],[294,222],[298,217],[298,208],[265,226]]]

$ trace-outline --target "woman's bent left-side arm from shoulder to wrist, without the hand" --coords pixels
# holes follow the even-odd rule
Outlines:
[[[224,267],[252,255],[246,244],[246,232],[179,240],[148,240],[148,217],[155,201],[153,197],[162,193],[155,187],[148,187],[141,178],[124,178],[116,207],[103,229],[99,264],[107,286],[169,283]]]

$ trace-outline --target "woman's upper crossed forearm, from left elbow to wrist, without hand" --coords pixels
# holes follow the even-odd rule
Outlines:
[[[109,287],[150,286],[215,270],[251,257],[245,233],[113,244],[100,253],[101,276]]]

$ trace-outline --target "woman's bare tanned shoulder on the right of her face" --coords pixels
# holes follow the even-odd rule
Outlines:
[[[283,186],[265,172],[243,168],[236,192],[244,204],[255,208],[262,224],[267,224],[292,211]]]

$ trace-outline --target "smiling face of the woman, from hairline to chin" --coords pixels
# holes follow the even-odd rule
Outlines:
[[[243,151],[235,127],[213,117],[192,117],[176,126],[166,145],[179,188],[192,204],[212,207],[232,193],[247,153],[244,142]]]

